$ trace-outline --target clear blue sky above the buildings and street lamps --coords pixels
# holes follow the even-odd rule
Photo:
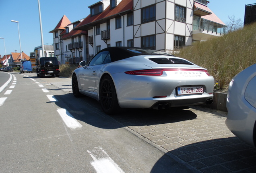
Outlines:
[[[254,4],[255,0],[209,0],[208,7],[226,24],[228,16],[235,16],[244,21],[246,4]],[[88,6],[99,0],[40,0],[41,21],[43,28],[43,43],[52,45],[53,30],[63,15],[70,22],[85,18],[90,13]],[[21,50],[29,56],[34,48],[41,45],[41,32],[39,23],[38,0],[0,0],[0,54],[4,56],[4,41],[6,54],[20,52],[19,34],[21,37]]]

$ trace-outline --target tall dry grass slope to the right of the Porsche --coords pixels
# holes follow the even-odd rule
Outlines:
[[[207,68],[218,89],[227,89],[235,74],[256,63],[256,23],[221,37],[195,42],[175,56]]]

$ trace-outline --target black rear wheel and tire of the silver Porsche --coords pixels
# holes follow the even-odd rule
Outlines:
[[[115,114],[120,109],[116,88],[110,76],[104,76],[100,82],[99,103],[103,112],[108,115]]]

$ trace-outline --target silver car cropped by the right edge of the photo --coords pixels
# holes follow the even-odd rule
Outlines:
[[[227,94],[229,130],[256,147],[256,64],[239,72],[230,82]]]

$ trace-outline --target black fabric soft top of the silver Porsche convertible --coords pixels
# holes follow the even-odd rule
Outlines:
[[[137,47],[108,47],[100,50],[99,52],[103,52],[103,51],[108,51],[110,53],[111,62],[130,58],[132,56],[138,56],[138,55],[161,54],[161,55],[173,56],[172,54],[168,54],[160,50],[151,50],[151,49],[137,48]]]

